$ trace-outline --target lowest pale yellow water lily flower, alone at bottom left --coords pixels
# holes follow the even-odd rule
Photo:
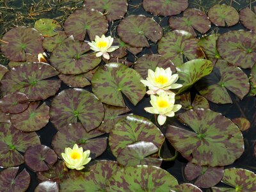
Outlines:
[[[83,147],[78,147],[77,144],[73,148],[66,147],[65,153],[62,153],[65,164],[70,169],[83,170],[84,164],[87,164],[91,161],[90,150],[83,152]]]

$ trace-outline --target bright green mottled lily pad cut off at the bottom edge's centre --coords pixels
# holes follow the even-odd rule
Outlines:
[[[108,180],[107,191],[170,191],[177,184],[173,175],[157,166],[126,166]]]

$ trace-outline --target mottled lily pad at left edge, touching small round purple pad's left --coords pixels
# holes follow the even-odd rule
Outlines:
[[[40,144],[40,139],[35,132],[21,132],[10,124],[0,125],[0,166],[18,166],[24,163],[20,152]]]

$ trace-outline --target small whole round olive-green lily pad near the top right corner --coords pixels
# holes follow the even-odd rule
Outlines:
[[[215,4],[208,11],[211,22],[220,27],[234,26],[239,21],[239,14],[236,9],[227,4]]]

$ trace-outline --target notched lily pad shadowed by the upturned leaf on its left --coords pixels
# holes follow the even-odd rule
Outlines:
[[[232,103],[227,90],[243,99],[250,90],[250,83],[239,67],[228,65],[227,61],[218,60],[213,72],[201,79],[196,84],[196,89],[211,102],[227,104]]]

